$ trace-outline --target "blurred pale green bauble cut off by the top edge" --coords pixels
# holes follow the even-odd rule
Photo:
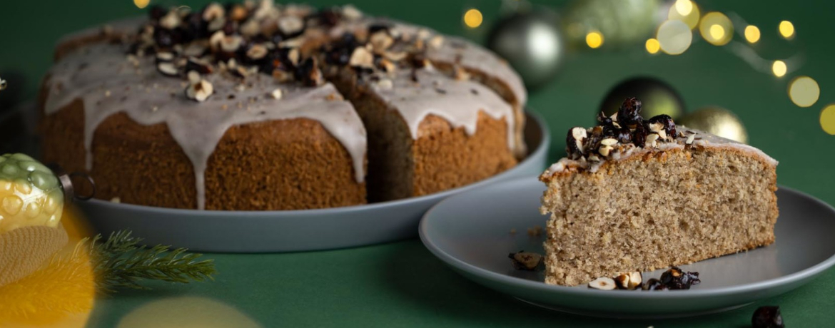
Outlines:
[[[575,47],[585,46],[586,34],[603,34],[604,48],[644,43],[659,23],[660,0],[575,0],[568,7],[564,32]]]

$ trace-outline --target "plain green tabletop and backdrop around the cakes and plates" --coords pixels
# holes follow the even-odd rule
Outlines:
[[[183,2],[192,6],[203,3]],[[476,0],[353,3],[368,13],[424,24],[477,41],[483,40],[500,7],[496,1]],[[552,8],[564,5],[541,3]],[[554,81],[535,90],[529,99],[529,108],[542,114],[554,132],[550,159],[564,154],[564,131],[593,122],[595,110],[609,88],[624,78],[650,75],[679,90],[688,109],[706,105],[731,109],[746,125],[750,144],[780,161],[780,184],[835,204],[835,136],[823,132],[818,123],[823,106],[835,102],[835,2],[697,3],[703,12],[737,13],[759,26],[762,40],[756,47],[764,58],[800,54],[802,65],[783,78],[775,78],[751,68],[727,48],[701,39],[679,56],[653,56],[642,45],[617,52],[587,49],[569,53]],[[482,28],[463,28],[462,13],[471,7],[483,11]],[[53,44],[61,35],[138,14],[143,12],[129,0],[3,1],[0,73],[9,69],[24,73],[28,78],[25,95],[33,97],[50,65]],[[777,36],[777,23],[782,19],[795,25],[797,36],[791,41]],[[815,78],[821,87],[820,99],[810,108],[797,107],[787,96],[788,82],[799,75]],[[206,257],[216,260],[220,273],[215,281],[155,284],[155,290],[124,291],[101,298],[89,326],[116,326],[140,305],[183,295],[231,305],[265,327],[742,327],[750,325],[751,313],[759,305],[780,305],[791,327],[835,325],[835,270],[827,270],[798,290],[721,314],[680,320],[602,320],[541,310],[476,285],[448,269],[417,239],[348,250]],[[182,315],[205,314],[196,311]]]

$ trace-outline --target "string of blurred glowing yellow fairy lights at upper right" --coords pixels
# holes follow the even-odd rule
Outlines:
[[[482,13],[476,8],[468,8],[463,14],[463,23],[468,28],[480,27],[483,23]],[[741,29],[736,30],[737,27]],[[753,47],[763,37],[759,27],[746,23],[735,13],[726,15],[709,12],[702,15],[699,6],[692,0],[676,0],[672,3],[667,18],[656,28],[655,37],[645,41],[644,48],[650,55],[685,53],[693,43],[693,36],[696,34],[693,31],[696,29],[698,35],[707,43],[727,46],[729,52],[750,64],[751,68],[773,74],[777,78],[786,77],[802,64],[798,56],[773,60],[762,58]],[[794,24],[787,20],[777,23],[777,33],[786,40],[792,40],[797,35]],[[744,42],[736,41],[736,34]],[[605,35],[600,31],[590,30],[585,34],[585,44],[591,49],[600,48],[604,43]],[[787,94],[792,103],[802,108],[809,108],[817,103],[820,93],[817,81],[805,75],[793,77],[787,87]],[[819,122],[824,132],[835,135],[835,103],[822,108]]]

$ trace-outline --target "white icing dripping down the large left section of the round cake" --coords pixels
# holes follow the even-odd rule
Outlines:
[[[365,177],[366,130],[352,105],[330,83],[316,88],[276,83],[266,74],[239,81],[211,74],[205,78],[215,94],[198,103],[183,96],[186,82],[165,78],[153,58],[130,63],[125,49],[93,44],[68,53],[49,72],[46,114],[75,99],[84,106],[84,148],[87,169],[93,169],[93,136],[110,115],[125,113],[139,124],[168,125],[171,136],[195,169],[198,209],[205,209],[205,169],[226,130],[238,124],[276,119],[315,119],[352,157],[355,178]],[[276,88],[282,98],[267,96]],[[234,98],[233,98],[234,97]]]

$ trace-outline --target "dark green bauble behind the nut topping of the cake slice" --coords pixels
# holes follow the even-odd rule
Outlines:
[[[670,115],[673,120],[681,118],[684,102],[669,84],[657,78],[630,78],[615,85],[600,103],[598,113],[611,116],[617,112],[625,98],[635,97],[643,104],[641,116],[649,119],[660,114]],[[596,117],[597,113],[595,113]],[[676,121],[677,123],[677,121]]]

